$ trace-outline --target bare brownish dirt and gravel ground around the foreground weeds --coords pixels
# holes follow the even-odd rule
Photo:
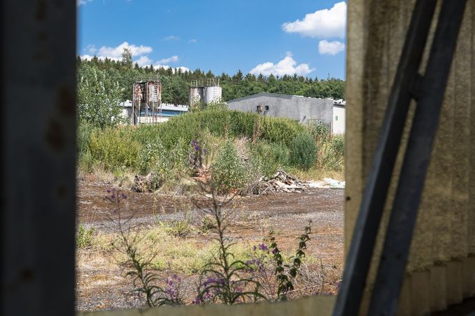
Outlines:
[[[78,180],[77,222],[93,226],[96,232],[106,231],[107,219],[114,207],[104,200],[107,184],[86,179]],[[150,226],[159,221],[181,219],[188,197],[154,193],[127,194],[127,210],[134,212],[134,221]],[[322,285],[299,288],[293,298],[309,294],[336,294],[343,271],[343,189],[311,189],[303,193],[278,193],[268,196],[235,198],[235,219],[230,235],[235,240],[258,244],[269,230],[277,232],[281,249],[293,251],[296,237],[312,221],[313,234],[308,255],[318,258],[309,269],[318,269]],[[187,237],[196,245],[206,244],[212,235],[193,234]],[[321,260],[321,262],[320,262]],[[160,271],[164,278],[173,271]],[[107,251],[78,249],[77,251],[77,310],[107,310],[143,307],[137,294],[131,294],[132,284],[125,278]],[[196,275],[181,275],[185,296],[191,301],[196,288]],[[323,283],[325,282],[325,283]],[[302,285],[303,286],[303,285]]]

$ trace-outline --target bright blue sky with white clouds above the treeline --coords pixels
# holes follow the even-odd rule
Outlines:
[[[215,74],[345,78],[346,3],[323,0],[77,0],[78,54]]]

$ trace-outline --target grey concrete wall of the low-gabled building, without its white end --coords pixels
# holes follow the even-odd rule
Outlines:
[[[309,123],[310,120],[322,120],[329,126],[333,123],[333,100],[259,93],[228,101],[227,104],[229,109],[254,113],[260,105],[265,116],[285,117],[300,123]]]

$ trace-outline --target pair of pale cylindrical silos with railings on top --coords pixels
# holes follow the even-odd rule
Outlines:
[[[221,102],[222,88],[219,79],[194,80],[189,84],[189,106]]]

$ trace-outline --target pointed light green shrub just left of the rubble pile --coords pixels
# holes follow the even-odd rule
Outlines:
[[[212,166],[212,183],[219,193],[242,189],[247,183],[247,171],[231,141],[227,141]]]

